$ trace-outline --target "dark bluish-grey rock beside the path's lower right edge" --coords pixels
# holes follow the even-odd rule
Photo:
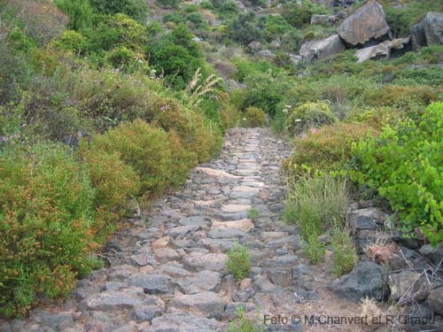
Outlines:
[[[364,297],[382,299],[385,297],[383,268],[372,262],[361,262],[354,266],[350,274],[330,283],[328,288],[339,297],[358,302]]]

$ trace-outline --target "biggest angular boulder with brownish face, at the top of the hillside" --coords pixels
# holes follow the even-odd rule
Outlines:
[[[352,46],[384,37],[390,31],[383,7],[375,0],[369,0],[357,9],[338,27],[338,35]]]

